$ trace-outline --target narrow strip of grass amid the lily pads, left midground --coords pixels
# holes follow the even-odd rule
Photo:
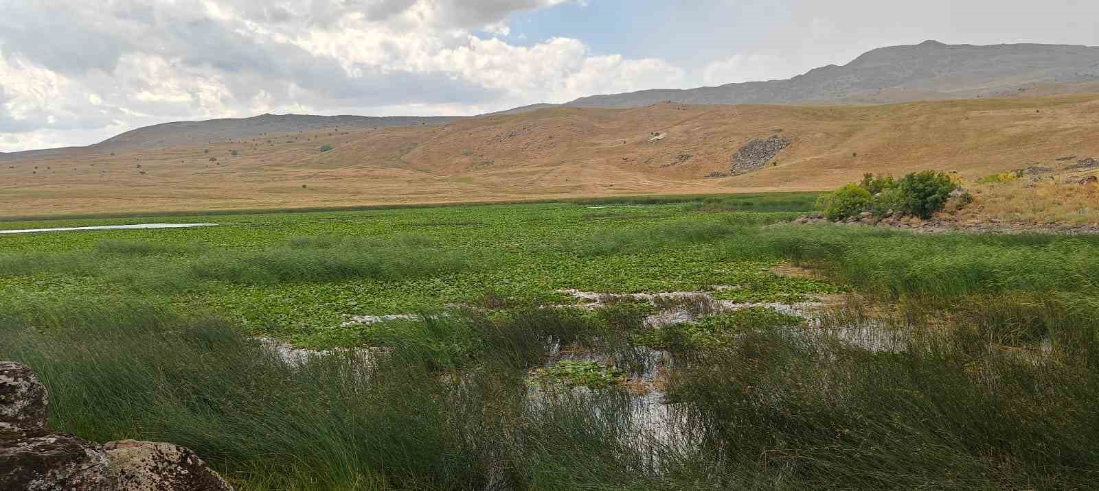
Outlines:
[[[300,237],[257,250],[108,240],[98,242],[92,251],[0,253],[0,276],[93,276],[141,292],[180,293],[201,289],[209,282],[270,285],[349,278],[396,281],[476,271],[489,262],[476,252],[441,249],[419,235],[385,241]]]

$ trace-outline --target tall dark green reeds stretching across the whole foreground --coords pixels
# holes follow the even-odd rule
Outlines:
[[[1099,479],[1095,346],[1020,356],[966,324],[875,352],[777,312],[713,318],[707,330],[735,335],[677,357],[666,386],[686,414],[670,431],[698,435],[685,448],[639,433],[628,391],[526,396],[525,374],[554,345],[601,343],[617,329],[576,309],[378,324],[385,355],[288,364],[210,316],[112,298],[22,306],[0,319],[0,356],[40,373],[55,427],[176,442],[242,489],[1080,489]]]

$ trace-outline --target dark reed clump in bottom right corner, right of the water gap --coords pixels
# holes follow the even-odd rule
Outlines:
[[[710,448],[768,488],[1099,482],[1099,373],[1059,352],[1031,358],[931,332],[875,352],[752,331],[696,357],[669,391],[698,411]]]

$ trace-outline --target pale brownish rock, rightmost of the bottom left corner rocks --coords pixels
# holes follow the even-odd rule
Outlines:
[[[170,443],[124,439],[103,445],[109,473],[120,490],[227,491],[225,482],[193,452]]]

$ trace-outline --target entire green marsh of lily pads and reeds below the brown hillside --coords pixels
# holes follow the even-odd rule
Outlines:
[[[180,443],[249,490],[1099,484],[1099,240],[771,225],[806,205],[745,199],[0,236],[0,358],[42,374],[55,427]],[[116,221],[140,220],[49,225]],[[851,295],[656,330],[660,301],[560,288]],[[371,347],[291,363],[256,333]]]

